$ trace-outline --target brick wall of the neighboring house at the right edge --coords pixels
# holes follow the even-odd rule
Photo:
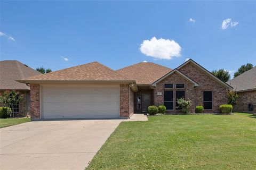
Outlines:
[[[238,92],[237,104],[233,107],[233,112],[256,113],[256,90]],[[248,110],[248,104],[253,104],[253,111]]]

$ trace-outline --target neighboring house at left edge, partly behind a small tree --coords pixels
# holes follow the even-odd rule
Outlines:
[[[0,94],[4,90],[16,90],[22,95],[22,100],[14,106],[14,116],[26,116],[29,114],[30,96],[29,86],[15,80],[39,75],[41,73],[31,69],[25,64],[15,60],[0,61]],[[5,106],[0,102],[0,107]]]

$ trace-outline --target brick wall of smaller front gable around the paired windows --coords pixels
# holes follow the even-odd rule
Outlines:
[[[184,79],[183,77],[181,77],[178,73],[173,73],[171,74],[169,77],[165,78],[164,80],[162,80],[161,82],[158,82],[156,84],[156,90],[155,90],[155,105],[159,106],[159,105],[164,105],[164,84],[173,84],[173,99],[174,99],[174,106],[173,106],[173,111],[166,111],[166,113],[181,113],[181,111],[177,111],[177,109],[175,108],[175,91],[176,90],[184,90],[184,89],[175,89],[175,84],[181,84],[184,83],[185,84],[185,99],[186,100],[191,100],[192,101],[192,105],[190,107],[190,113],[194,113],[194,87],[193,84]],[[157,92],[162,92],[162,95],[157,95]]]

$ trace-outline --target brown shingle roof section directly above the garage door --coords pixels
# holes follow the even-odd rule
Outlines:
[[[132,81],[129,78],[124,77],[109,67],[102,65],[98,62],[92,62],[88,64],[78,65],[54,71],[42,75],[36,75],[22,79],[20,82],[29,81]]]

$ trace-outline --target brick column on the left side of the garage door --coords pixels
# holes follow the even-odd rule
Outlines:
[[[30,115],[31,118],[40,118],[40,87],[39,84],[30,84]]]

